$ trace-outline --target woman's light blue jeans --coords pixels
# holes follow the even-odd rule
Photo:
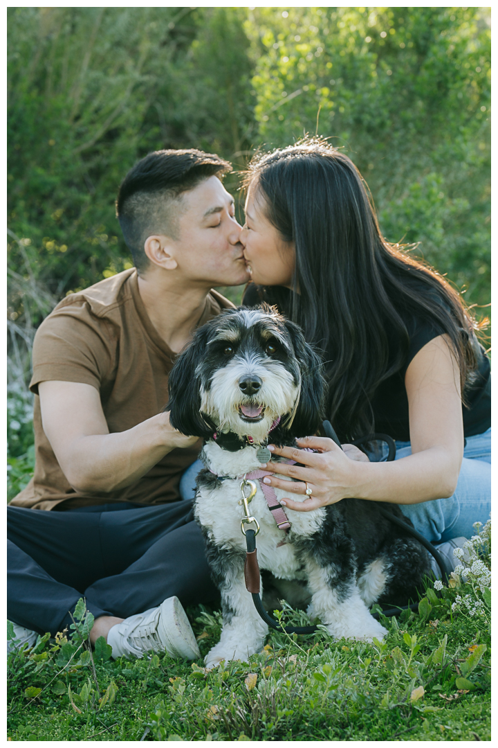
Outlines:
[[[396,460],[408,455],[411,455],[410,442],[396,441]],[[196,460],[181,476],[182,499],[193,498],[196,475],[202,467],[202,462]],[[443,543],[475,535],[473,523],[485,524],[491,512],[491,429],[467,437],[458,484],[452,496],[420,504],[400,504],[399,508],[411,519],[415,530],[430,542]]]

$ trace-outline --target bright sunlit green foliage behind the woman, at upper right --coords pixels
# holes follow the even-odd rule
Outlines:
[[[367,179],[391,242],[467,301],[490,295],[487,8],[255,8],[255,116],[267,145],[326,135]]]

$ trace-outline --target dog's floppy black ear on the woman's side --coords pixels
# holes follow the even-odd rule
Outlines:
[[[301,367],[301,393],[292,423],[288,427],[285,423],[282,426],[293,437],[311,436],[317,432],[323,420],[326,383],[322,373],[322,359],[306,343],[298,325],[287,320],[285,327]]]

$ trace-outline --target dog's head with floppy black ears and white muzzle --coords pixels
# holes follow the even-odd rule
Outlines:
[[[196,331],[169,375],[172,426],[263,441],[281,418],[281,435],[312,434],[323,399],[320,364],[297,325],[267,304],[225,310]]]

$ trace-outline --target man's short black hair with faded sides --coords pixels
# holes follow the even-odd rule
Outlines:
[[[143,251],[148,236],[165,234],[178,239],[181,194],[228,171],[228,161],[196,149],[156,150],[128,171],[119,187],[116,215],[138,272],[149,266]]]

